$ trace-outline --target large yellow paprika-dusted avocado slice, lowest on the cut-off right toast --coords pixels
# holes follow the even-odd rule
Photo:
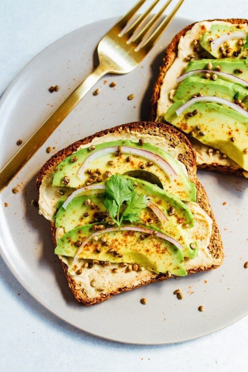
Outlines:
[[[187,110],[197,110],[197,115],[189,117],[184,112],[178,117],[175,110],[184,103],[184,100],[175,102],[165,113],[165,120],[186,133],[193,131],[198,141],[219,149],[248,171],[248,155],[244,151],[248,148],[248,118],[226,106],[210,102],[197,102]],[[196,125],[200,126],[200,131],[196,130]]]

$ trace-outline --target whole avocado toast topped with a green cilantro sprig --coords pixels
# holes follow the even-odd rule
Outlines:
[[[194,151],[172,126],[134,122],[77,141],[45,163],[36,186],[85,305],[223,261]]]

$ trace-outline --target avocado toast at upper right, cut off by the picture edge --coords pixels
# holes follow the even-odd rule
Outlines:
[[[166,49],[152,120],[188,135],[200,169],[248,177],[248,25],[244,19],[187,26]]]

